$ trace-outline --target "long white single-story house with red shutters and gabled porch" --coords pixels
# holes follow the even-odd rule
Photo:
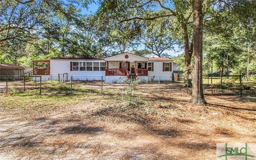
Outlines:
[[[112,57],[60,57],[34,61],[33,74],[43,75],[42,81],[64,79],[69,81],[98,81],[121,83],[125,78],[140,78],[142,82],[172,81],[173,60],[146,58],[132,53]]]

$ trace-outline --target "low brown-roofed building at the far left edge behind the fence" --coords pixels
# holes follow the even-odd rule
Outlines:
[[[5,79],[5,76],[22,76],[24,75],[24,67],[0,63],[0,79]],[[12,77],[10,77],[11,79]]]

